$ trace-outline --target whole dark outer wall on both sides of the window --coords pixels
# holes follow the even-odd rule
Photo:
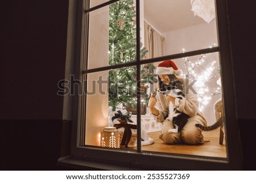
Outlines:
[[[68,0],[1,2],[0,142],[4,170],[55,170],[60,156]],[[228,0],[244,169],[254,169],[254,2]]]

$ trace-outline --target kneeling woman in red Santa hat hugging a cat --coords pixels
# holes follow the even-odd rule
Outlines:
[[[201,112],[198,111],[199,101],[195,90],[191,89],[191,81],[185,81],[184,78],[177,77],[182,73],[177,68],[174,61],[166,60],[158,65],[156,74],[158,74],[159,88],[163,85],[169,86],[171,82],[179,79],[184,83],[185,99],[178,99],[172,96],[166,96],[156,92],[152,94],[148,102],[148,108],[156,121],[162,123],[162,133],[159,138],[166,144],[185,143],[188,145],[197,145],[204,143],[204,137],[201,130],[195,124],[207,126],[207,121]],[[169,133],[168,130],[173,129],[172,121],[167,119],[169,101],[171,101],[180,112],[189,115],[187,124],[179,133]]]

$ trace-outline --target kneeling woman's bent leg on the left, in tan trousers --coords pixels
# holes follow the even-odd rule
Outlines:
[[[170,120],[164,120],[162,122],[162,133],[159,135],[159,138],[166,144],[177,144],[182,143],[179,133],[169,133],[168,130],[174,129],[174,125]]]

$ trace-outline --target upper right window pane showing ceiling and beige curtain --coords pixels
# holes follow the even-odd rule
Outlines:
[[[145,58],[217,46],[214,0],[143,1],[141,37]],[[201,12],[195,9],[200,8]],[[192,11],[194,10],[194,11]]]

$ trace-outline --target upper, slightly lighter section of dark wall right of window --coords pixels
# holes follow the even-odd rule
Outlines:
[[[255,120],[255,1],[228,0],[238,118]]]

